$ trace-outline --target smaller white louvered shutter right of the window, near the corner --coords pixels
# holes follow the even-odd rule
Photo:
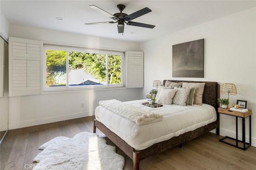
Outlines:
[[[143,52],[126,51],[126,88],[143,87]]]

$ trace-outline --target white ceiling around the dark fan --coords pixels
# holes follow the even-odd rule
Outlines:
[[[128,15],[145,7],[150,8],[152,12],[132,21],[156,27],[149,29],[125,25],[122,35],[118,34],[117,23],[84,25],[113,21],[89,5],[115,14],[119,12],[116,8],[118,4],[126,6],[123,13]],[[0,0],[1,11],[10,24],[134,42],[164,36],[254,6],[256,0]],[[56,17],[63,20],[56,20]]]

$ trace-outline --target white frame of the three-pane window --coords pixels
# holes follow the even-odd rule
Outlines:
[[[66,51],[66,86],[46,87],[46,50],[58,50]],[[69,51],[81,52],[81,53],[96,53],[106,55],[106,84],[86,85],[86,86],[69,86],[68,84],[68,68],[69,68]],[[109,84],[108,83],[108,55],[120,55],[121,56],[121,83]],[[119,88],[124,87],[124,52],[101,50],[101,49],[87,49],[81,47],[66,47],[55,45],[44,45],[43,55],[43,90],[44,92],[56,92],[56,91],[72,91],[72,90],[86,90],[86,89],[102,89],[102,88]]]

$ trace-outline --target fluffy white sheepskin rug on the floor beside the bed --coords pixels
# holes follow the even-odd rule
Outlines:
[[[34,170],[122,170],[124,157],[95,133],[56,137],[42,145]]]

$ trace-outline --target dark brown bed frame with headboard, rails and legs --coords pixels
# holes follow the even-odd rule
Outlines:
[[[172,82],[195,82],[202,83],[200,81],[182,81],[182,80],[169,80]],[[164,80],[163,84],[165,84],[166,80]],[[182,145],[191,139],[194,139],[200,135],[203,135],[213,129],[216,129],[216,135],[219,135],[219,117],[218,117],[218,101],[219,98],[219,84],[217,82],[204,82],[204,94],[203,94],[203,103],[209,104],[216,109],[217,120],[195,129],[194,131],[186,132],[178,137],[172,137],[167,141],[162,141],[159,143],[155,143],[154,145],[143,149],[143,150],[135,150],[130,145],[128,145],[124,140],[122,140],[118,135],[110,131],[105,125],[101,122],[94,120],[94,129],[93,133],[96,133],[96,127],[102,131],[117,147],[119,147],[125,154],[127,154],[133,160],[133,169],[139,170],[140,160],[148,158],[149,156],[155,155],[157,153],[168,150],[172,147],[176,147],[178,145]]]

